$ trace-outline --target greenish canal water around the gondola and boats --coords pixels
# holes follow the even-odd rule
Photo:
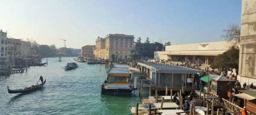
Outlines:
[[[100,85],[107,76],[104,65],[78,62],[78,68],[65,71],[66,63],[75,60],[58,59],[48,58],[48,65],[30,66],[28,72],[0,77],[0,114],[130,114],[129,108],[140,102],[138,90],[129,96],[100,94]],[[7,86],[10,89],[31,86],[40,75],[46,79],[42,89],[25,94],[8,93]]]

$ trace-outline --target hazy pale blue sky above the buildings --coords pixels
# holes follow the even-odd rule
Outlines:
[[[94,45],[107,34],[171,44],[225,41],[220,35],[241,21],[241,0],[43,0],[0,2],[0,29],[8,37],[55,44]]]

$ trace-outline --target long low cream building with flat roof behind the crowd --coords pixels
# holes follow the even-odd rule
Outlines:
[[[232,46],[234,41],[219,41],[212,43],[196,43],[196,44],[181,44],[166,46],[164,52],[155,52],[154,58],[158,59],[171,59],[171,60],[204,60],[209,63]]]

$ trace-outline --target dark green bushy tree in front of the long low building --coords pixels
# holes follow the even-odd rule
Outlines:
[[[232,46],[228,51],[224,52],[219,56],[214,57],[214,62],[211,63],[210,67],[218,69],[238,69],[238,63],[239,49],[237,49],[235,46]]]

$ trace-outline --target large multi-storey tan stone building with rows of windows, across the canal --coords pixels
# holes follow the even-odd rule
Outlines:
[[[133,35],[108,34],[105,38],[98,37],[94,49],[95,57],[111,59],[127,59],[133,49]]]

